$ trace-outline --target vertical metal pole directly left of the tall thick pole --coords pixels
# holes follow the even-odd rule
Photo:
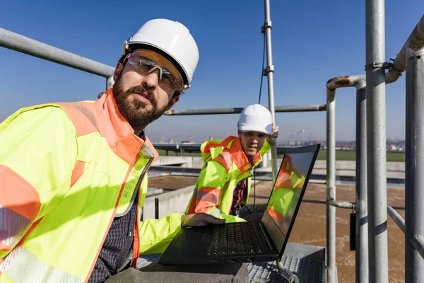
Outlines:
[[[356,89],[356,252],[355,282],[368,282],[367,88]]]

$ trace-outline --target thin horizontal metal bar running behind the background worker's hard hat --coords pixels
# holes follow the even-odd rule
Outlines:
[[[192,109],[192,110],[168,110],[165,115],[211,115],[211,114],[240,114],[243,108],[214,108],[214,109]],[[293,105],[276,106],[275,112],[312,112],[325,111],[326,105]]]

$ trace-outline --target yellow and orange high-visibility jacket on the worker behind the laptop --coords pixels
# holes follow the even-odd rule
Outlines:
[[[226,222],[245,221],[230,215],[234,190],[241,180],[247,179],[247,194],[242,204],[249,201],[252,168],[261,161],[262,156],[271,149],[268,141],[254,156],[250,165],[238,137],[224,140],[206,141],[201,145],[204,166],[197,179],[194,193],[187,205],[186,213],[205,212],[225,219]]]

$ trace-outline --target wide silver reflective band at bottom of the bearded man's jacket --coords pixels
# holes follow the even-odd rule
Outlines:
[[[18,246],[0,264],[0,272],[11,277],[16,283],[83,283],[84,280],[68,272],[46,265],[27,249]]]

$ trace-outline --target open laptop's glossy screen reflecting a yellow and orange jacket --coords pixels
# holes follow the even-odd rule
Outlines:
[[[280,251],[293,228],[317,149],[319,145],[288,149],[278,171],[262,222]]]

